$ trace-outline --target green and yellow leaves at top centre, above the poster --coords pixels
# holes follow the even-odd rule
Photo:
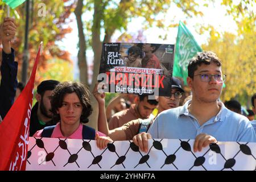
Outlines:
[[[90,1],[85,5],[86,13],[91,11],[94,14],[93,20],[85,20],[85,28],[88,32],[89,46],[92,46],[92,32],[105,32],[104,40],[110,40],[115,30],[126,31],[127,24],[133,20],[133,18],[143,18],[144,23],[139,25],[146,30],[149,27],[155,26],[160,28],[172,27],[174,22],[170,24],[164,24],[166,19],[165,14],[172,6],[172,3],[180,7],[184,11],[187,17],[203,15],[199,10],[199,4],[195,1],[155,1],[155,0],[140,0],[140,1]],[[97,6],[97,7],[96,7]],[[162,16],[159,16],[162,15]],[[92,21],[94,27],[92,26]],[[96,26],[100,25],[100,26]],[[92,29],[94,28],[94,29]],[[93,31],[92,31],[93,30]],[[100,36],[100,35],[98,35]],[[163,35],[165,37],[165,35]],[[108,38],[108,39],[106,39]],[[102,39],[101,39],[102,40]]]

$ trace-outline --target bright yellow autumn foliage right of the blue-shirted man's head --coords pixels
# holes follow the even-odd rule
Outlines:
[[[236,98],[247,107],[250,106],[250,98],[256,90],[254,22],[255,17],[244,17],[237,22],[237,35],[229,32],[220,34],[211,27],[208,44],[202,46],[204,50],[216,52],[222,60],[222,72],[227,77],[221,100]]]

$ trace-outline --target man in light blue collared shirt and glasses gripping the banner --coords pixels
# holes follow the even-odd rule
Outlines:
[[[133,138],[134,143],[147,152],[150,138],[195,139],[193,150],[196,152],[217,141],[256,142],[250,121],[217,101],[225,77],[215,53],[198,53],[188,64],[187,82],[192,100],[184,106],[163,111],[148,133]]]

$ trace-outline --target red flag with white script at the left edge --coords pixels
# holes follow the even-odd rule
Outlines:
[[[32,109],[35,73],[42,43],[40,43],[30,80],[0,123],[0,171],[26,170],[27,149]]]

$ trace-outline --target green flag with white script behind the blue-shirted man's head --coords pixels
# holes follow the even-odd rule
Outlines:
[[[202,52],[203,50],[183,22],[179,23],[175,47],[174,71],[172,75],[183,78],[184,85],[187,85],[189,60],[197,52]]]

